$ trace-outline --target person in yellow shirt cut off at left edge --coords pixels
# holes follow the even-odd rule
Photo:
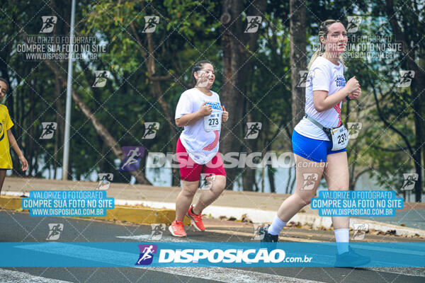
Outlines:
[[[6,96],[7,90],[7,81],[0,78],[0,100]],[[13,168],[10,146],[18,154],[18,158],[22,163],[22,171],[26,171],[28,168],[28,161],[23,156],[21,149],[19,149],[15,137],[13,137],[12,126],[13,122],[8,115],[6,105],[0,104],[0,192],[3,187],[4,178],[6,177],[6,171]]]

